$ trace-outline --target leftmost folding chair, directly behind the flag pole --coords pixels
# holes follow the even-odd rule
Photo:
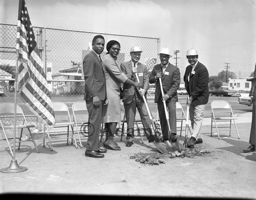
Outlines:
[[[7,119],[13,119],[13,121],[11,120],[7,120]],[[11,121],[11,122],[10,122]],[[8,137],[7,136],[7,130],[12,130],[14,129],[14,103],[1,103],[0,104],[0,123],[1,123],[1,128],[4,132],[5,135],[5,140],[7,141],[7,144],[10,148],[11,151],[11,155],[13,157],[13,152],[12,152],[12,148],[10,146],[9,140],[14,139],[13,137]],[[11,125],[10,125],[11,123]],[[31,133],[30,128],[34,128],[35,125],[34,124],[29,124],[22,108],[20,108],[19,105],[16,105],[16,130],[20,129],[20,135],[19,137],[15,137],[15,140],[18,139],[18,150],[20,149],[20,143],[22,142],[27,142],[27,141],[31,141],[34,143],[34,146],[36,148],[37,153],[39,153],[34,137]],[[22,139],[22,134],[23,134],[23,129],[27,129],[29,131],[29,136],[28,138]],[[16,135],[16,134],[15,134]],[[31,138],[31,139],[30,139]],[[13,142],[11,142],[13,143]]]

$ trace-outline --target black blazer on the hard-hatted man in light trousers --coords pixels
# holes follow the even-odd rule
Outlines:
[[[191,70],[191,65],[186,67],[186,71],[183,77],[185,82],[185,88],[189,96],[194,99],[192,104],[194,106],[207,104],[209,99],[209,73],[207,68],[200,62],[197,63],[194,74],[191,74],[188,82],[188,76]]]

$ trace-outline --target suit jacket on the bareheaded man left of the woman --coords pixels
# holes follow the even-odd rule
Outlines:
[[[98,96],[101,101],[106,99],[106,80],[103,65],[98,55],[91,51],[83,59],[84,100],[92,100]]]

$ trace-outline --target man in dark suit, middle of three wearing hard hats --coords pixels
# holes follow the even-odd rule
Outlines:
[[[176,115],[176,102],[178,101],[177,90],[180,85],[180,69],[169,63],[169,58],[172,57],[170,55],[170,50],[168,48],[162,48],[160,53],[161,64],[157,64],[154,66],[150,73],[150,83],[155,83],[156,91],[155,91],[155,103],[157,103],[159,119],[163,134],[164,142],[168,142],[168,140],[172,140],[172,142],[177,141],[177,115]],[[162,87],[164,95],[161,93],[161,85],[159,78],[162,81]],[[165,116],[164,103],[166,103],[166,107],[168,108],[169,114],[169,124],[170,124],[170,138],[168,131],[167,119]]]

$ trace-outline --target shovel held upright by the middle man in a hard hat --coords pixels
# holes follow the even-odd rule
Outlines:
[[[163,93],[163,85],[162,85],[162,79],[159,78],[159,82],[160,82],[160,88],[161,88],[161,93],[162,93],[162,96],[164,96],[164,93]],[[165,112],[165,117],[166,117],[166,121],[167,121],[167,125],[168,125],[168,131],[169,131],[169,138],[170,138],[170,122],[169,122],[169,113],[167,111],[167,107],[166,107],[166,103],[165,103],[165,100],[163,100],[163,106],[164,106],[164,112]],[[170,142],[167,140],[164,141],[164,143],[166,144],[166,147],[168,149],[169,152],[171,151],[178,151],[178,152],[181,152],[180,150],[180,147],[179,147],[179,143],[176,141],[176,142],[172,142],[171,139],[169,139]],[[171,144],[170,144],[171,143]]]

